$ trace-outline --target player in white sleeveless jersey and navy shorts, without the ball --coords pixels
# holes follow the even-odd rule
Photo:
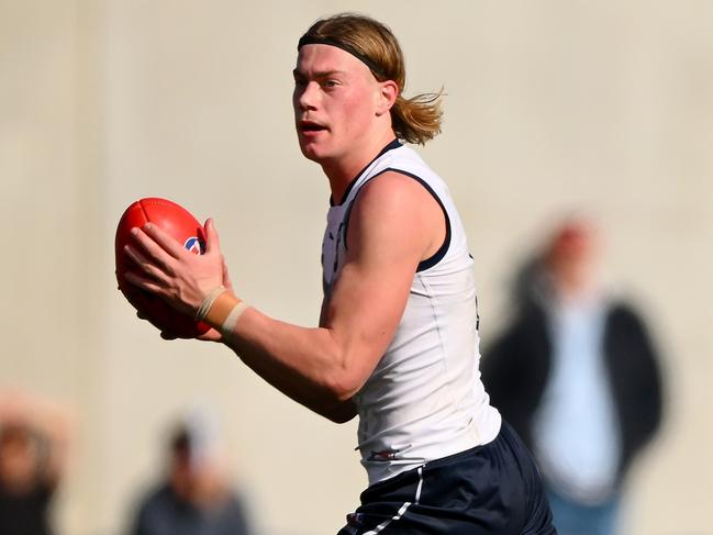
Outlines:
[[[441,131],[439,94],[405,99],[398,41],[355,14],[308,30],[293,77],[300,148],[332,190],[320,325],[280,322],[235,296],[211,220],[202,256],[156,225],[134,230],[126,279],[205,321],[202,338],[312,411],[358,414],[369,488],[341,534],[554,533],[539,475],[480,382],[458,213],[401,144]]]

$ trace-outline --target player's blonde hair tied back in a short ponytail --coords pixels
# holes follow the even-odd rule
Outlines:
[[[322,19],[300,38],[300,45],[324,43],[338,46],[359,58],[379,81],[392,80],[399,94],[391,108],[391,125],[402,141],[424,145],[441,133],[441,97],[421,93],[405,99],[405,63],[399,42],[385,24],[366,15],[339,13]]]

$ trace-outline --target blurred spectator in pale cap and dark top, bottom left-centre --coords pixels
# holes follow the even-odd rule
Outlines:
[[[131,535],[248,535],[243,499],[229,483],[216,430],[203,416],[177,425],[167,473],[138,504]]]

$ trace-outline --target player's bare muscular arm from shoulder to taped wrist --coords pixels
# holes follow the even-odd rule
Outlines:
[[[389,345],[419,261],[439,247],[444,235],[443,212],[433,197],[408,177],[385,174],[364,187],[352,211],[347,256],[323,305],[320,326],[292,325],[250,308],[223,342],[293,400],[332,420],[347,420],[354,412],[345,402],[361,388]],[[155,227],[140,233],[145,252],[152,249],[145,247],[149,238],[163,242]],[[142,286],[146,279],[133,280]],[[179,283],[171,280],[166,283]],[[156,293],[176,308],[196,310],[200,304],[176,303],[177,298],[169,296],[180,291],[161,291]]]

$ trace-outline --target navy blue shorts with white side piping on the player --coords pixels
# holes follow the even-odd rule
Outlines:
[[[498,437],[372,484],[337,535],[552,535],[530,452],[505,422]]]

